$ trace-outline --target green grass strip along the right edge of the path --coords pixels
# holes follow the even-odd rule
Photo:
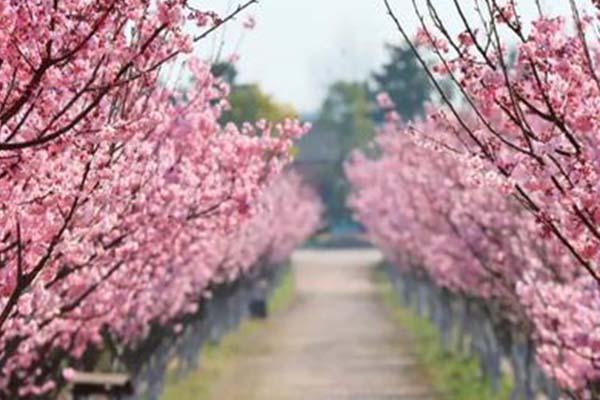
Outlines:
[[[377,268],[374,280],[380,296],[393,318],[405,328],[415,341],[415,353],[434,389],[448,400],[507,400],[512,384],[504,378],[498,393],[493,393],[488,381],[481,377],[478,361],[458,352],[441,347],[437,328],[412,310],[403,308],[399,297],[385,274]]]

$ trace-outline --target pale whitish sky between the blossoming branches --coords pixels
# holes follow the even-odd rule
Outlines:
[[[465,4],[470,0],[461,0]],[[585,1],[585,0],[582,0]],[[224,13],[242,0],[203,0]],[[391,0],[407,26],[416,27],[410,0]],[[437,0],[452,15],[452,0]],[[523,12],[534,15],[533,0],[521,0]],[[566,0],[549,0],[546,10],[564,12]],[[277,99],[300,112],[318,109],[328,84],[337,79],[364,79],[385,60],[383,44],[399,34],[385,13],[383,0],[261,0],[249,11],[257,19],[254,31],[243,35],[240,21],[225,33],[224,54],[239,48],[240,80],[259,83]],[[457,18],[449,18],[455,20]],[[211,40],[215,41],[217,37]],[[203,52],[214,54],[211,40]]]

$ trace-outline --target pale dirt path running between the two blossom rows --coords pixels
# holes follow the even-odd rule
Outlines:
[[[297,298],[249,340],[215,400],[429,400],[370,279],[375,251],[301,251]]]

